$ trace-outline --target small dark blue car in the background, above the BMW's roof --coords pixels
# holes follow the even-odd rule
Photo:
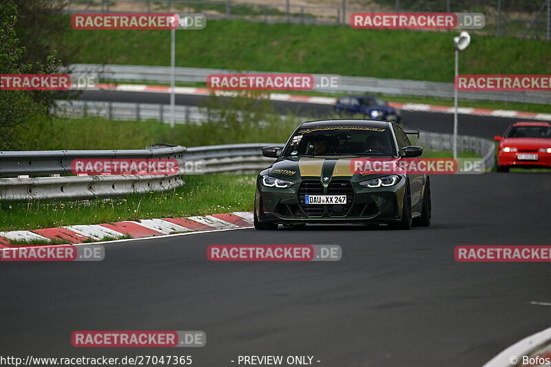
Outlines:
[[[401,123],[399,109],[388,105],[375,96],[346,96],[337,99],[335,112],[341,116],[360,115],[372,120],[385,120]]]

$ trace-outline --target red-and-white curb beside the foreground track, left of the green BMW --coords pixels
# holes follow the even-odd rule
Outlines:
[[[35,229],[33,231],[0,232],[0,249],[10,247],[12,241],[39,240],[44,244],[48,244],[48,242],[56,240],[78,244],[88,240],[101,241],[123,236],[144,238],[171,233],[249,227],[253,227],[253,213],[250,211],[187,218],[123,220],[112,224],[79,224],[60,228]]]

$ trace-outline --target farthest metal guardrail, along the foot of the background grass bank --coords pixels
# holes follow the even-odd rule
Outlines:
[[[68,70],[74,74],[88,74],[92,77],[98,76],[99,78],[116,82],[170,83],[170,67],[165,66],[73,64],[70,65]],[[236,71],[200,67],[176,67],[175,77],[178,83],[206,83],[209,74],[232,72]],[[267,72],[241,71],[240,73]],[[321,74],[313,75],[315,78],[321,76]],[[453,98],[454,96],[453,83],[369,78],[363,76],[340,76],[340,85],[338,87],[314,87],[313,90],[324,93],[382,93],[393,96],[429,96],[437,98]],[[486,100],[551,104],[551,92],[460,91],[459,98],[471,101]]]

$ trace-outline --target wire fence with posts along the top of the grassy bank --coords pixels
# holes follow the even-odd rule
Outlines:
[[[369,7],[350,0],[67,0],[69,12],[203,12],[209,19],[247,19],[266,23],[348,25],[353,12],[481,12],[486,25],[474,33],[516,38],[551,36],[551,0],[373,0]],[[450,32],[444,30],[442,32]]]

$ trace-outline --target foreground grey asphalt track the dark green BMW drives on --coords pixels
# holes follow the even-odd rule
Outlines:
[[[460,263],[458,244],[550,244],[548,174],[432,176],[433,225],[242,229],[106,244],[103,262],[0,263],[19,357],[313,355],[317,366],[481,366],[551,326],[548,263]],[[340,244],[340,262],[209,262],[209,244]],[[73,348],[76,330],[202,330],[203,348]]]

